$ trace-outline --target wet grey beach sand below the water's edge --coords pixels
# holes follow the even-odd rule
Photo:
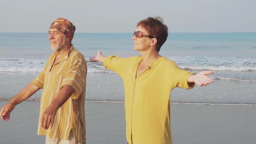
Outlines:
[[[0,101],[0,107],[8,101]],[[0,144],[44,144],[40,101],[23,101],[0,121]],[[256,106],[171,104],[173,144],[256,144]],[[126,144],[124,103],[86,102],[86,144]],[[149,137],[150,138],[150,137]]]

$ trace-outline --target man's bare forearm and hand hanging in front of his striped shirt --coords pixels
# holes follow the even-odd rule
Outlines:
[[[41,115],[41,128],[48,129],[53,127],[57,110],[69,99],[74,89],[70,85],[64,85],[57,97],[53,99],[51,104]]]

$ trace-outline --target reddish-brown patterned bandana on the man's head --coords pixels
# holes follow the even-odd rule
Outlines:
[[[49,29],[57,29],[61,33],[63,33],[67,38],[72,41],[74,33],[75,33],[75,26],[69,20],[64,18],[58,18],[51,24]]]

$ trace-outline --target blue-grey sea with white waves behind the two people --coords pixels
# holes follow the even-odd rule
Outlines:
[[[140,55],[133,33],[75,33],[72,44],[85,56],[87,102],[124,102],[121,77],[89,58]],[[53,51],[48,33],[0,33],[0,100],[10,100],[46,65]],[[256,33],[169,33],[160,55],[190,72],[213,70],[214,82],[190,90],[174,88],[171,103],[256,105]],[[28,98],[40,101],[42,91]]]

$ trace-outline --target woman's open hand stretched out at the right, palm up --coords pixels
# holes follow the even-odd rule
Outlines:
[[[213,71],[202,71],[196,75],[189,75],[187,78],[187,82],[195,82],[199,86],[206,86],[208,84],[213,83],[213,79],[211,79],[208,75],[212,74]]]

